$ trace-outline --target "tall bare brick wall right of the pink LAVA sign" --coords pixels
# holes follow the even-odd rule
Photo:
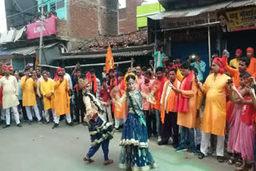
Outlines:
[[[118,0],[72,0],[67,20],[57,22],[57,37],[69,38],[68,50],[100,34],[118,34]]]

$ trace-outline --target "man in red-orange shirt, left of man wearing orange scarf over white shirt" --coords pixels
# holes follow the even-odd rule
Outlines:
[[[160,101],[161,101],[161,95],[163,86],[168,81],[166,78],[163,77],[163,68],[159,66],[156,70],[156,79],[154,80],[152,84],[152,89],[154,86],[158,87],[155,91],[154,98],[155,98],[155,104],[152,105],[152,109],[155,111],[155,118],[156,118],[156,124],[157,124],[157,132],[158,132],[158,141],[162,141],[161,139],[161,117],[160,117]]]

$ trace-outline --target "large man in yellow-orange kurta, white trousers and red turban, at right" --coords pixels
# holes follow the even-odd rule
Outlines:
[[[214,74],[210,74],[203,84],[203,93],[206,94],[206,107],[202,116],[201,153],[199,153],[198,158],[202,159],[207,156],[210,134],[212,133],[218,137],[216,153],[218,161],[222,162],[226,128],[226,84],[230,77],[224,74],[222,58],[214,58],[213,63],[220,66],[220,70],[216,78],[214,78]]]

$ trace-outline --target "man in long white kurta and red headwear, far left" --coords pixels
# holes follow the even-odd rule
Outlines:
[[[0,80],[2,86],[2,109],[6,109],[6,125],[2,128],[10,126],[10,109],[14,111],[14,118],[18,127],[22,127],[18,115],[18,82],[17,79],[10,75],[10,67],[4,67],[5,76]]]

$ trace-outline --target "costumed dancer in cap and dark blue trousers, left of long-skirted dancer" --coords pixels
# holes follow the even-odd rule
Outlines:
[[[86,86],[90,86],[90,81],[79,79],[78,82],[79,88],[82,89],[82,101],[85,105],[86,116],[84,117],[84,121],[88,123],[91,141],[91,147],[83,160],[94,162],[90,157],[93,157],[94,153],[96,153],[99,147],[102,146],[105,159],[103,165],[110,165],[114,162],[108,157],[110,139],[112,139],[114,135],[113,124],[105,121],[99,114],[103,111],[102,105],[100,101],[90,93],[90,88],[86,88]]]

